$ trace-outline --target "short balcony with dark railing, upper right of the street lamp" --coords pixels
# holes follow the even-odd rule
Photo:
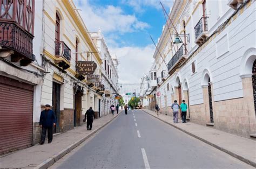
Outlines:
[[[194,33],[197,45],[202,45],[206,39],[208,38],[208,24],[207,24],[208,17],[201,17],[197,25],[194,27]]]

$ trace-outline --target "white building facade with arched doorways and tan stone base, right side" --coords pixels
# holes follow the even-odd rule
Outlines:
[[[147,93],[150,104],[171,115],[173,101],[185,100],[191,122],[255,133],[255,5],[175,1],[153,55],[157,96]]]

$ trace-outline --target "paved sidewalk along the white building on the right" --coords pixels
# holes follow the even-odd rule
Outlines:
[[[195,123],[181,123],[180,119],[179,123],[173,124],[172,117],[170,116],[166,116],[164,114],[159,114],[159,116],[157,116],[156,112],[154,111],[147,109],[142,110],[160,119],[161,121],[170,124],[174,128],[196,137],[201,141],[256,167],[256,142],[254,140],[232,135],[231,133]]]

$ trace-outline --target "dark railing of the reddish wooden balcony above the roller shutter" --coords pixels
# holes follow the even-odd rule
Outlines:
[[[0,46],[35,60],[35,55],[33,55],[33,36],[15,23],[0,22]]]

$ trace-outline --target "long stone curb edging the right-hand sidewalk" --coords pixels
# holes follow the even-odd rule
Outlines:
[[[143,110],[143,111],[146,112],[145,110]],[[211,143],[211,142],[209,142],[208,140],[206,140],[206,139],[204,139],[204,138],[198,137],[197,135],[194,135],[194,134],[191,133],[191,132],[188,132],[188,131],[186,131],[186,130],[184,130],[184,129],[181,129],[181,128],[179,128],[177,125],[173,125],[173,124],[171,124],[171,123],[169,123],[169,122],[166,122],[166,121],[164,121],[163,119],[161,119],[161,118],[159,118],[159,117],[156,117],[156,116],[150,114],[149,112],[146,112],[146,113],[149,114],[149,115],[151,115],[151,116],[153,116],[153,117],[155,117],[155,118],[157,118],[157,119],[159,119],[160,121],[162,121],[162,122],[164,122],[164,123],[166,123],[166,124],[169,124],[169,125],[173,126],[174,128],[176,128],[176,129],[178,129],[178,130],[180,130],[180,131],[185,132],[187,135],[190,135],[190,136],[192,136],[192,137],[194,137],[194,138],[197,138],[197,139],[201,140],[202,142],[205,142],[206,144],[211,145],[211,146],[213,146],[213,147],[219,149],[220,151],[223,151],[223,152],[229,154],[230,156],[233,156],[234,158],[237,158],[237,159],[243,161],[244,163],[246,163],[246,164],[248,164],[248,165],[251,165],[251,166],[253,166],[253,167],[256,167],[256,162],[255,162],[255,161],[252,161],[252,160],[250,160],[250,159],[246,159],[246,158],[240,156],[239,154],[236,154],[236,153],[234,153],[234,152],[231,152],[231,151],[225,149],[224,147],[220,147],[219,145],[214,144],[214,143]]]

